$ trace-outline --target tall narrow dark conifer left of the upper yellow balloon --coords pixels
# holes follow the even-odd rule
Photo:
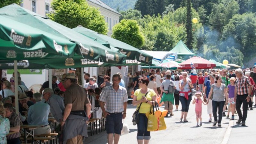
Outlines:
[[[186,18],[186,29],[187,29],[187,46],[192,48],[192,14],[191,14],[191,0],[187,0],[187,18]]]

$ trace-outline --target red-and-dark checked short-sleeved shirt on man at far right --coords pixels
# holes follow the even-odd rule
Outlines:
[[[236,78],[237,95],[245,95],[249,93],[249,86],[252,85],[247,76]]]

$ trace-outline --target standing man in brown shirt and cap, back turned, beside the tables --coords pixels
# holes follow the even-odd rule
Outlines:
[[[91,104],[84,89],[77,85],[77,76],[68,73],[61,79],[65,87],[65,110],[60,125],[63,127],[63,143],[82,144],[83,136],[88,137],[87,122]],[[84,110],[86,107],[86,110]]]

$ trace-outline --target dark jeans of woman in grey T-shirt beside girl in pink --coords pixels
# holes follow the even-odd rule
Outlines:
[[[219,108],[219,120],[218,124],[221,123],[222,120],[222,112],[223,112],[223,107],[224,107],[225,101],[217,102],[217,101],[212,101],[212,114],[214,121],[217,121],[217,108]]]

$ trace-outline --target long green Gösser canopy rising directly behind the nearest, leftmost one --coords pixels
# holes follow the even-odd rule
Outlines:
[[[80,54],[75,54],[74,58],[82,57],[105,63],[125,64],[126,55],[117,53],[110,48],[80,34],[79,32],[75,32],[72,29],[60,25],[50,19],[41,17],[40,15],[26,10],[17,4],[11,4],[1,8],[0,16],[76,43],[76,50],[80,52]]]

